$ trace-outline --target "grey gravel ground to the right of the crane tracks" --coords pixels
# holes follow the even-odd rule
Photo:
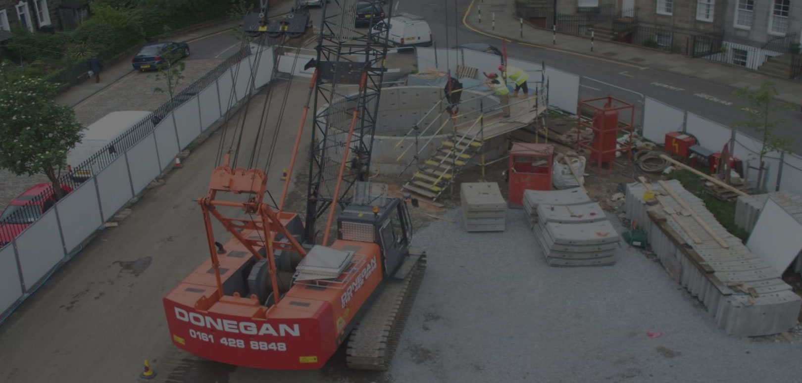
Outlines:
[[[800,337],[727,336],[637,249],[551,268],[520,210],[505,232],[445,216],[415,234],[427,274],[387,381],[800,381]]]

